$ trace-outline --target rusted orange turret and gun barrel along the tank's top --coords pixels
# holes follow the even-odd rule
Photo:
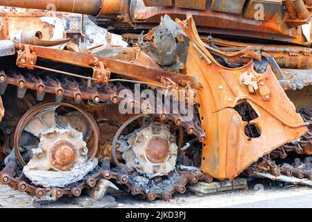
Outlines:
[[[187,14],[193,15],[193,19],[201,33],[216,33],[220,35],[232,35],[241,37],[256,37],[264,40],[278,40],[281,42],[291,42],[295,44],[309,44],[306,41],[302,28],[303,24],[309,22],[311,11],[307,9],[302,0],[296,0],[294,7],[282,1],[254,1],[248,0],[243,6],[243,1],[224,5],[224,1],[145,1],[143,0],[92,0],[91,2],[80,1],[6,1],[1,0],[1,6],[12,6],[21,8],[47,9],[53,6],[57,11],[76,12],[80,14],[92,15],[94,22],[99,25],[114,29],[115,32],[123,32],[124,28],[145,29],[153,28],[160,22],[162,15],[172,15],[179,19],[185,19]],[[264,7],[263,19],[258,19],[255,15],[261,13],[257,10],[258,3]],[[238,4],[239,10],[233,7]],[[287,11],[284,9],[287,6]],[[172,6],[171,6],[172,5]],[[149,7],[150,6],[150,7]],[[159,7],[156,6],[167,6]],[[51,8],[48,8],[51,9]],[[52,8],[53,9],[53,8]],[[294,17],[295,9],[297,18]],[[223,12],[233,13],[220,13]],[[240,12],[241,11],[241,12]],[[288,13],[290,16],[288,16]],[[286,16],[284,16],[286,14]],[[111,24],[114,24],[113,26]],[[296,30],[296,27],[299,29]]]

